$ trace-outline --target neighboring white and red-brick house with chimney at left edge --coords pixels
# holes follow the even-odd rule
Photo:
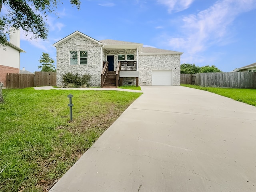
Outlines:
[[[10,33],[10,42],[6,47],[0,47],[0,82],[6,86],[7,73],[20,72],[20,52],[25,52],[20,48],[20,31]]]

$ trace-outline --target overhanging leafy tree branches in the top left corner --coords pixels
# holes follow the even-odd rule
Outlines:
[[[0,45],[6,45],[6,32],[22,28],[25,35],[32,33],[31,38],[46,39],[48,26],[44,21],[48,13],[56,13],[60,0],[0,0],[2,6],[7,7],[7,13],[0,16]],[[80,8],[80,0],[70,0],[73,6]]]

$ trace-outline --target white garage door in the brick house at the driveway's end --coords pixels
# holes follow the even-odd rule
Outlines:
[[[152,85],[172,85],[172,70],[153,70]]]

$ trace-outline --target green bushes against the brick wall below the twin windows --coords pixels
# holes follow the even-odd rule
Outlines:
[[[75,88],[79,88],[81,86],[84,86],[85,84],[87,86],[90,86],[91,75],[90,74],[84,74],[82,77],[68,72],[63,75],[63,83],[65,84],[65,87],[67,87],[70,84],[74,84]]]

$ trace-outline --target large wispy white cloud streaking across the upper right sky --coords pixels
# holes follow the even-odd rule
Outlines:
[[[232,23],[236,17],[256,8],[254,1],[217,1],[213,6],[197,14],[184,16],[179,36],[163,35],[164,44],[185,52],[186,58],[203,60],[200,54],[210,46],[232,42]],[[214,58],[212,58],[214,60]]]

